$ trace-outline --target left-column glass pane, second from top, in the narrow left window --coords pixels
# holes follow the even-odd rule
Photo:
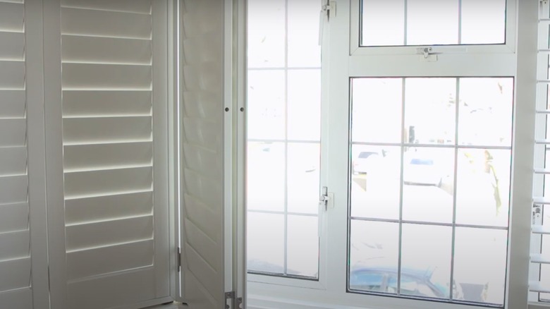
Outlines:
[[[285,138],[284,71],[248,71],[249,139]]]

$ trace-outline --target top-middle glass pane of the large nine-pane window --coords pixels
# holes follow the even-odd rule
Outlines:
[[[456,78],[405,79],[405,142],[454,144]]]

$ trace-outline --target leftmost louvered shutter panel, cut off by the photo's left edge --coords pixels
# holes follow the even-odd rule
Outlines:
[[[0,304],[31,309],[25,6],[0,1]]]

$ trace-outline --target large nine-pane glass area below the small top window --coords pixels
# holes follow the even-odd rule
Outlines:
[[[503,305],[513,78],[352,78],[349,289]]]

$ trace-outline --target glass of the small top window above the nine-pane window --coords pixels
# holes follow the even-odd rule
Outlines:
[[[361,46],[503,44],[506,0],[362,0]]]

